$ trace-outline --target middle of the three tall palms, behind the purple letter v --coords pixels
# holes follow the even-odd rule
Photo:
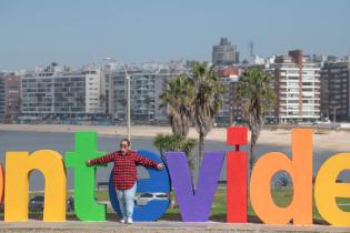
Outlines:
[[[194,63],[192,67],[196,89],[193,122],[199,134],[199,164],[202,161],[204,138],[211,131],[214,114],[223,104],[226,91],[222,82],[216,77],[213,65]]]

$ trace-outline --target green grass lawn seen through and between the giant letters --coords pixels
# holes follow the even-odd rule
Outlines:
[[[37,195],[39,193],[30,193],[30,196]],[[73,193],[68,192],[67,195],[70,196]],[[292,199],[292,190],[291,189],[281,189],[272,191],[272,196],[277,205],[279,206],[288,206]],[[97,191],[97,199],[99,201],[109,201],[108,191]],[[213,204],[211,206],[211,215],[210,220],[226,222],[226,189],[218,189],[214,195]],[[339,207],[343,211],[350,211],[350,199],[337,199],[337,203]],[[3,215],[3,214],[1,214]],[[108,210],[108,215],[114,215],[113,210]],[[37,219],[41,217],[42,213],[31,213],[30,217]],[[68,217],[74,217],[73,213],[69,213]],[[179,209],[168,209],[167,213],[162,216],[162,220],[181,220],[181,215],[179,213]],[[259,217],[257,217],[251,204],[250,200],[248,201],[248,220],[249,222],[260,222]],[[319,224],[326,224],[326,222],[320,216],[314,202],[313,202],[313,222]]]

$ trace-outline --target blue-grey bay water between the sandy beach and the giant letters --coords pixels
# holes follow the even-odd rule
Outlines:
[[[119,148],[119,141],[123,136],[99,136],[99,150],[100,151],[116,151]],[[132,138],[132,149],[134,150],[150,150],[157,152],[153,146],[152,138]],[[4,165],[4,154],[7,151],[29,151],[34,152],[37,150],[54,150],[60,152],[63,156],[67,151],[73,150],[74,134],[73,133],[42,133],[42,132],[10,132],[0,131],[0,161]],[[206,141],[206,151],[229,151],[233,150],[232,146],[227,146],[224,142]],[[249,150],[249,146],[242,146],[241,150]],[[291,155],[290,148],[271,146],[259,144],[257,146],[257,156],[261,156],[267,152],[283,152],[287,155]],[[313,174],[317,173],[320,165],[331,155],[337,153],[334,150],[321,151],[313,148]],[[106,182],[109,179],[111,164],[107,168],[100,168],[97,172],[97,182]],[[147,176],[144,169],[138,170],[139,176]],[[349,173],[344,172],[340,175],[340,179],[347,180]],[[67,169],[67,185],[68,189],[73,188],[73,170]],[[220,180],[226,180],[226,165],[221,171]],[[43,190],[43,176],[40,172],[32,172],[30,176],[30,190]]]

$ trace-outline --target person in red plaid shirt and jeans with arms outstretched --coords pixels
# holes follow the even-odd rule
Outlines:
[[[130,141],[122,139],[120,150],[94,160],[88,160],[88,165],[114,162],[112,169],[113,184],[122,213],[121,223],[132,224],[134,195],[137,191],[137,165],[152,166],[158,170],[164,168],[163,163],[156,163],[137,152],[130,150]]]

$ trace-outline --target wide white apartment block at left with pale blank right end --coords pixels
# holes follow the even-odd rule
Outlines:
[[[103,112],[100,70],[52,63],[22,75],[22,114],[39,119],[87,118]]]

